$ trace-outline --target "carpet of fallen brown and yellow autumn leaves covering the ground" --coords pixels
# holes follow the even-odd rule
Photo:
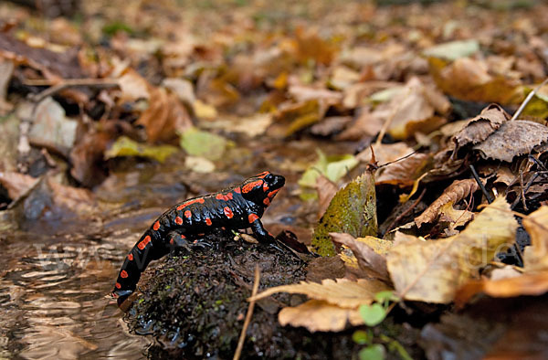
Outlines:
[[[267,220],[332,257],[258,295],[309,298],[279,323],[369,324],[363,350],[381,354],[397,341],[378,322],[406,323],[435,358],[486,300],[529,295],[543,311],[546,5],[99,3],[83,6],[85,31],[0,7],[18,19],[0,22],[0,211],[19,214],[7,228],[107,217],[96,194],[128,167],[173,168],[170,185],[196,194],[268,167],[289,181]],[[148,176],[129,174],[124,191]],[[503,336],[490,321],[475,355]],[[439,329],[451,335],[425,335]]]

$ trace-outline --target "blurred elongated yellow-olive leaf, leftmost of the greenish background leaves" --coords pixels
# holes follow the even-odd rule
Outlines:
[[[105,158],[111,159],[120,156],[142,156],[154,159],[163,163],[171,154],[179,151],[178,148],[171,145],[148,145],[146,143],[137,143],[132,139],[121,136],[116,139],[111,148],[105,152]]]

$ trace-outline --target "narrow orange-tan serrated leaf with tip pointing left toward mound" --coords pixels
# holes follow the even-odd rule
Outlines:
[[[298,284],[276,286],[262,291],[251,297],[248,301],[264,299],[276,292],[301,293],[313,300],[329,302],[333,305],[345,308],[357,308],[362,304],[374,302],[374,294],[379,291],[390,290],[383,281],[368,281],[358,279],[350,281],[347,279],[325,279],[321,284],[317,282],[300,281]]]

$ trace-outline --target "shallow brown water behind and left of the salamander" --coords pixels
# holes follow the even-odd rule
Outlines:
[[[227,164],[237,172],[215,175],[188,174],[180,165],[126,166],[93,190],[98,208],[90,214],[54,208],[38,218],[17,217],[18,230],[0,233],[0,358],[146,357],[153,340],[128,334],[108,296],[122,260],[143,230],[177,201],[266,168],[288,178],[263,217],[267,228],[303,226],[295,223],[304,218],[301,200],[291,193],[298,188],[299,166],[315,158],[314,148],[296,143],[278,151],[249,152]],[[40,199],[50,201],[42,195],[34,196],[31,206]]]

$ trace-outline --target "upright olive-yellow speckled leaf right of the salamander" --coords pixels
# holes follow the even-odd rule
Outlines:
[[[343,232],[354,238],[376,236],[374,176],[366,172],[339,190],[327,206],[312,236],[312,249],[321,256],[334,256],[330,232]]]

